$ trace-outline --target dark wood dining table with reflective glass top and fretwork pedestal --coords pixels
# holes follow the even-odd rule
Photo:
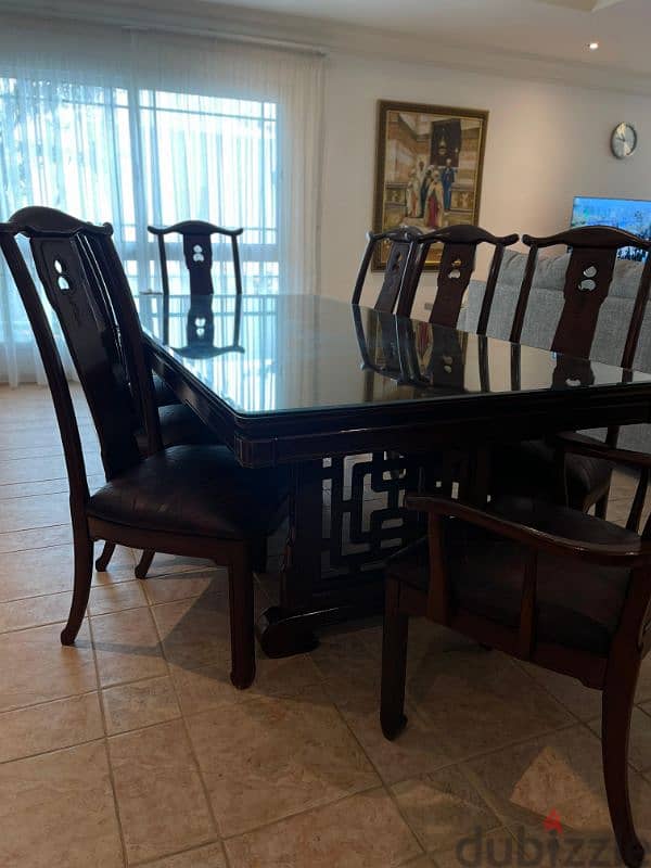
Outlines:
[[[386,558],[423,533],[405,490],[489,489],[490,444],[650,421],[651,374],[317,295],[142,294],[154,370],[247,468],[291,467],[271,656],[381,611]]]

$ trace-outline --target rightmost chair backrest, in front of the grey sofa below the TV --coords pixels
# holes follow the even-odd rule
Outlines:
[[[622,247],[636,247],[648,252],[651,251],[651,243],[638,235],[607,226],[578,227],[548,238],[523,235],[522,241],[529,247],[529,254],[515,307],[510,340],[519,343],[522,336],[522,327],[538,261],[538,251],[541,247],[564,244],[571,247],[563,286],[565,301],[550,349],[556,353],[589,358],[599,310],[612,284],[617,251]],[[644,268],[641,269],[622,354],[621,365],[623,368],[633,366],[650,285],[651,257],[647,257]]]

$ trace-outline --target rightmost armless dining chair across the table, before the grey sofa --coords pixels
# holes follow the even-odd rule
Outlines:
[[[563,290],[564,304],[550,349],[577,358],[589,358],[599,311],[611,288],[617,251],[629,246],[650,251],[651,243],[628,232],[603,226],[579,227],[549,238],[523,235],[522,240],[529,247],[529,254],[510,340],[519,343],[522,336],[538,252],[542,247],[565,244],[571,248],[571,255]],[[623,368],[633,367],[650,285],[651,257],[647,259],[641,271],[633,305],[621,358]],[[614,446],[617,436],[617,427],[609,429],[607,444]],[[535,490],[536,497],[558,499],[559,475],[554,468],[561,465],[558,456],[561,442],[562,438],[554,443],[528,441],[519,445],[510,444],[503,449],[498,448],[493,459],[496,493],[522,494]],[[595,506],[597,514],[604,518],[611,470],[608,461],[597,457],[570,454],[565,468],[569,505],[583,511]]]

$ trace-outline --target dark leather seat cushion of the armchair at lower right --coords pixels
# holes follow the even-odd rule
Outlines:
[[[528,498],[503,498],[493,503],[490,510],[511,521],[572,539],[639,546],[639,537],[622,527]],[[452,604],[516,628],[527,549],[455,519],[445,520],[445,547]],[[426,540],[394,556],[387,572],[426,591],[430,583]],[[539,552],[538,639],[605,655],[620,623],[629,577],[626,569]]]

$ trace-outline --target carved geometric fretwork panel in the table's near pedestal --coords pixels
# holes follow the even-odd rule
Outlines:
[[[333,458],[323,467],[322,574],[378,566],[425,532],[423,516],[403,506],[423,472],[413,459],[384,452]]]

